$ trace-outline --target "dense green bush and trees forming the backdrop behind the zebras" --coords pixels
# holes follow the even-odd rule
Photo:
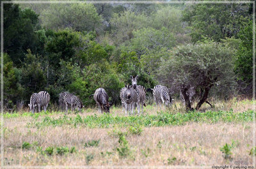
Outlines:
[[[89,106],[98,87],[118,104],[130,75],[146,88],[166,85],[175,97],[195,87],[196,109],[208,96],[251,97],[251,10],[250,4],[4,4],[5,108],[19,111],[39,91],[49,92],[52,107],[63,91]]]

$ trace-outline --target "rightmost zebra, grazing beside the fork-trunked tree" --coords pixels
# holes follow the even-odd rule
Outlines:
[[[157,104],[162,102],[163,105],[168,106],[172,103],[172,98],[169,95],[167,87],[163,85],[156,85],[153,89],[147,89],[147,91],[153,91],[153,97]]]

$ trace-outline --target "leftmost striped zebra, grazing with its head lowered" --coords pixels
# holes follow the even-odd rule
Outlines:
[[[36,107],[38,107],[38,112],[41,112],[41,106],[46,108],[50,101],[50,94],[45,91],[40,91],[38,93],[33,93],[30,98],[30,103],[28,104],[30,111],[35,114]]]

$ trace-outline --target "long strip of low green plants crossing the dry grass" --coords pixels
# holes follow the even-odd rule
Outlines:
[[[63,115],[58,118],[45,116],[42,120],[28,122],[28,128],[44,128],[47,126],[85,126],[88,128],[124,128],[134,126],[131,128],[131,133],[138,133],[140,126],[152,127],[152,126],[176,126],[188,124],[188,122],[250,122],[253,120],[253,111],[235,113],[232,110],[225,112],[194,112],[193,114],[170,114],[169,112],[159,112],[157,115],[140,115],[140,116],[113,116],[113,115],[88,115],[82,118],[80,115],[76,117],[68,117]]]

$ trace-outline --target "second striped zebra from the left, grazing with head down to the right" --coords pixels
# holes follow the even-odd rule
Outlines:
[[[63,97],[62,99],[60,98],[59,100],[65,103],[66,112],[68,111],[68,105],[71,105],[71,111],[75,110],[76,108],[78,110],[81,110],[84,107],[81,99],[79,99],[74,94],[71,94],[69,92],[62,92],[62,94],[60,93],[60,96]]]

